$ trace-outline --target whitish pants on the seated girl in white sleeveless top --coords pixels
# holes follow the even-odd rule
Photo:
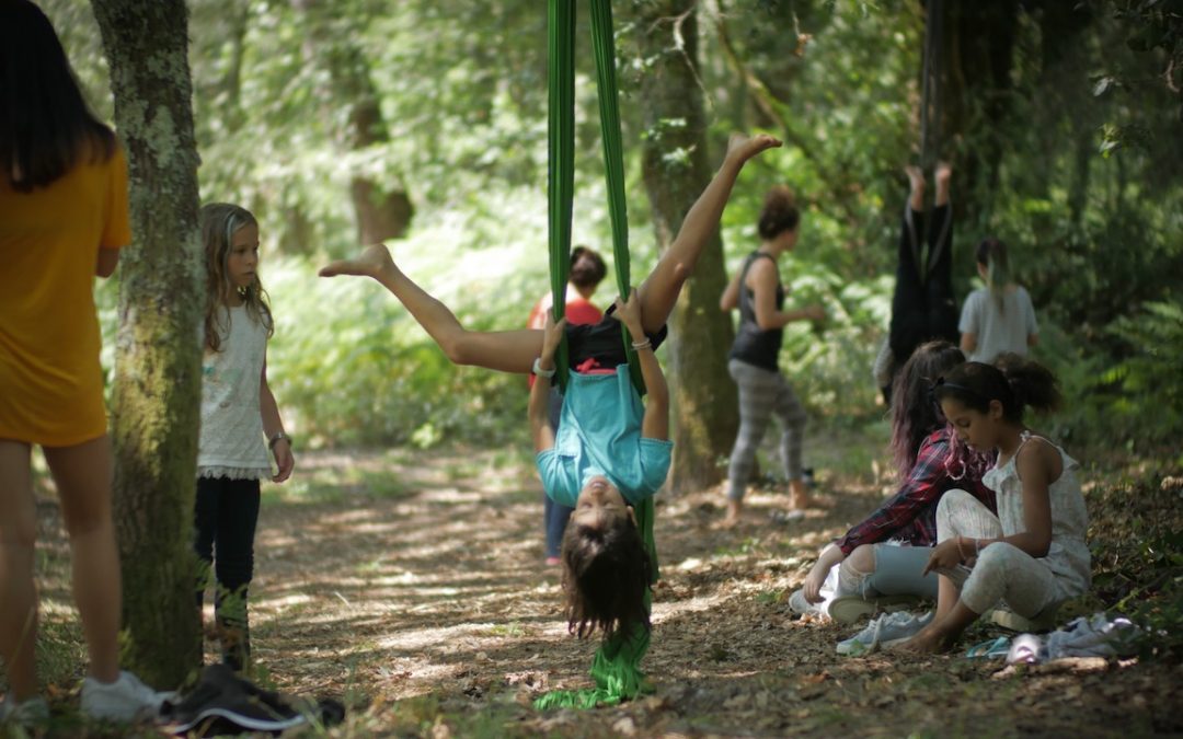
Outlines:
[[[937,540],[958,536],[994,539],[1003,536],[1002,523],[977,498],[951,490],[937,504]],[[953,576],[951,572],[942,575]],[[953,576],[953,582],[957,579]],[[1002,601],[1020,616],[1034,618],[1062,599],[1052,570],[1006,542],[995,542],[983,549],[959,588],[962,603],[975,614],[984,614]]]

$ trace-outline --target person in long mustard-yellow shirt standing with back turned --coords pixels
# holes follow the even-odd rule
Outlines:
[[[34,666],[37,501],[45,453],[70,534],[90,656],[83,712],[128,720],[159,708],[118,665],[119,557],[98,361],[95,275],[131,241],[128,173],[114,131],[83,101],[65,51],[28,0],[0,1],[0,724],[49,717]]]

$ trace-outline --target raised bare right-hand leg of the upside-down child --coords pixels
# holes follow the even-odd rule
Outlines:
[[[744,163],[761,151],[780,145],[780,141],[767,134],[751,138],[739,135],[731,137],[719,171],[691,206],[673,244],[636,291],[641,299],[641,322],[646,332],[659,330],[670,318],[681,284],[694,271],[698,255],[719,227],[723,208],[728,205],[731,188]]]

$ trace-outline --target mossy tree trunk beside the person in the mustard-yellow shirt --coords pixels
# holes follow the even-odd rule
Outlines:
[[[182,0],[93,0],[131,175],[111,423],[127,659],[175,687],[201,663],[193,498],[205,270]]]

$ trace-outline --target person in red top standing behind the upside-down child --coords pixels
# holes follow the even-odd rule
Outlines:
[[[594,326],[603,318],[603,312],[592,303],[592,294],[608,274],[608,267],[603,264],[603,258],[586,246],[576,246],[571,249],[571,273],[567,283],[567,323],[569,325]],[[530,311],[530,318],[525,328],[542,330],[547,328],[547,312],[554,305],[554,299],[548,292],[538,298]],[[526,378],[530,387],[534,387],[535,376]],[[563,409],[563,396],[555,388],[550,393],[550,427],[558,428],[558,416]],[[571,507],[561,503],[555,503],[550,495],[543,494],[542,521],[547,532],[547,564],[558,565],[558,547],[563,542],[563,531],[567,530],[567,519],[571,517]]]

